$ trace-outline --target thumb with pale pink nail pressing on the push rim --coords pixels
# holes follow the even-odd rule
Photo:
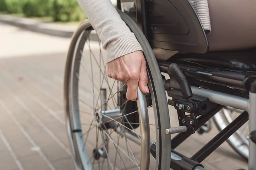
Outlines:
[[[140,68],[140,80],[139,80],[140,91],[144,94],[148,94],[148,75],[147,75],[147,67],[145,60],[143,61]]]

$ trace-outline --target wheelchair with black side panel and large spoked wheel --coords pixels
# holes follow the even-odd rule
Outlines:
[[[136,102],[126,99],[127,86],[106,74],[96,31],[81,23],[64,73],[76,169],[205,170],[202,161],[228,141],[256,170],[256,42],[211,51],[188,0],[118,0],[117,8],[143,48],[150,94],[138,88]],[[192,157],[175,151],[212,118],[220,132],[204,147]]]

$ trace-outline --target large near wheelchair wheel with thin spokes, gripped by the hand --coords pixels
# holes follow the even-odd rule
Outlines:
[[[120,16],[142,45],[147,62],[147,105],[126,101],[126,85],[106,75],[106,52],[89,20],[81,23],[70,44],[64,81],[67,132],[76,169],[140,169],[140,136],[150,133],[150,168],[170,167],[169,111],[162,77],[153,51],[140,28],[126,14]],[[140,98],[138,98],[140,101]],[[149,130],[140,134],[138,108],[148,108]],[[141,145],[141,146],[140,146]]]

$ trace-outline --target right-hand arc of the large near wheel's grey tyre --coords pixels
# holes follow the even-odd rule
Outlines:
[[[148,79],[154,79],[156,82],[154,85],[151,85],[150,87],[155,88],[156,91],[156,97],[152,96],[152,100],[155,100],[153,102],[158,103],[159,108],[154,108],[154,111],[156,109],[159,110],[157,114],[159,114],[158,120],[158,128],[160,129],[157,133],[157,139],[161,139],[160,141],[157,141],[157,157],[160,159],[155,169],[158,170],[169,170],[170,169],[170,162],[171,162],[171,136],[165,134],[165,129],[170,127],[170,119],[169,119],[169,110],[167,105],[167,99],[166,99],[166,93],[163,88],[163,80],[160,74],[160,70],[157,64],[157,61],[154,57],[154,53],[152,51],[151,46],[148,43],[148,40],[144,36],[143,32],[140,30],[140,28],[137,26],[137,24],[124,12],[117,10],[119,15],[121,16],[122,20],[125,21],[125,23],[130,27],[130,29],[133,31],[135,36],[137,37],[137,40],[140,42],[140,45],[143,48],[143,53],[147,62],[147,65],[149,68],[154,70],[154,73],[151,73],[152,77],[148,77]],[[151,69],[148,69],[150,71]],[[152,91],[152,89],[150,89]],[[161,100],[161,101],[156,101]],[[161,105],[159,105],[159,103]],[[156,105],[157,106],[157,105]]]

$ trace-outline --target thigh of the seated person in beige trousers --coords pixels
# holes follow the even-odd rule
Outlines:
[[[256,47],[256,0],[208,0],[210,51]]]

